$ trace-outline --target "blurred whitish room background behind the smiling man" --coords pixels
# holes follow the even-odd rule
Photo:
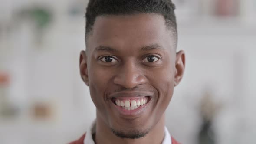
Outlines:
[[[166,111],[183,144],[256,144],[256,0],[173,0],[186,71]],[[0,144],[66,144],[95,119],[79,76],[88,0],[1,0]]]

